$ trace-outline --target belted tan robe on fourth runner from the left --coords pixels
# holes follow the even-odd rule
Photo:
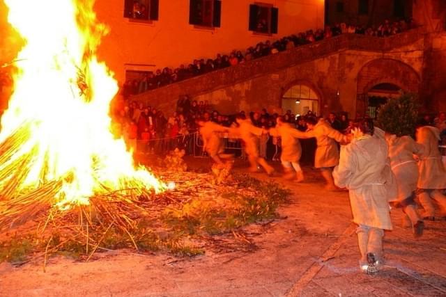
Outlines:
[[[346,142],[347,136],[333,129],[328,122],[321,119],[311,131],[305,132],[301,138],[316,137],[318,147],[314,156],[314,167],[328,168],[339,163],[339,149],[337,142]]]

